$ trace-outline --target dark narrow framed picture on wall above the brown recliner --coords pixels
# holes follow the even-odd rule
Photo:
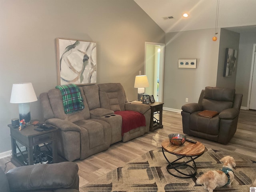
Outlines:
[[[236,70],[236,56],[237,50],[232,48],[226,48],[225,62],[224,62],[224,77],[229,77],[234,75]]]

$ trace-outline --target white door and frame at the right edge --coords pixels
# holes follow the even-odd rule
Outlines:
[[[252,67],[251,67],[247,109],[256,110],[256,44],[253,44]]]

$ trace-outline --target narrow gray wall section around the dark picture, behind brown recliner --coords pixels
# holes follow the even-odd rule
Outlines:
[[[238,50],[239,38],[240,38],[239,33],[226,30],[226,29],[220,30],[220,48],[219,48],[219,56],[218,56],[218,73],[217,73],[217,82],[216,82],[216,86],[218,87],[229,87],[229,88],[236,87],[236,72],[239,65],[238,63],[239,53],[237,53],[236,68],[235,68],[234,75],[223,77],[223,72],[224,72],[226,48],[232,48],[239,51]]]

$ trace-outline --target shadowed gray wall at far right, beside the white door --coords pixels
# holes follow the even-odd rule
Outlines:
[[[236,92],[243,94],[242,106],[247,106],[252,66],[253,44],[256,43],[256,33],[240,33],[238,66],[236,72]]]

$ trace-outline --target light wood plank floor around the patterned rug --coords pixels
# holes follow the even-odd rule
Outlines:
[[[123,166],[125,163],[141,156],[142,154],[161,146],[161,142],[168,138],[170,133],[182,133],[182,116],[177,112],[163,111],[164,128],[148,132],[144,136],[128,142],[112,144],[108,150],[100,152],[85,160],[76,160],[79,166],[80,186],[91,182],[100,176]],[[219,144],[201,138],[189,136],[202,142],[206,148],[222,151],[233,151],[256,160],[256,111],[240,110],[236,134],[227,144]],[[4,170],[5,163],[10,161],[11,156],[0,159],[0,166]],[[15,166],[9,162],[6,172]],[[256,187],[256,181],[252,185]],[[80,190],[82,192],[82,190]]]

